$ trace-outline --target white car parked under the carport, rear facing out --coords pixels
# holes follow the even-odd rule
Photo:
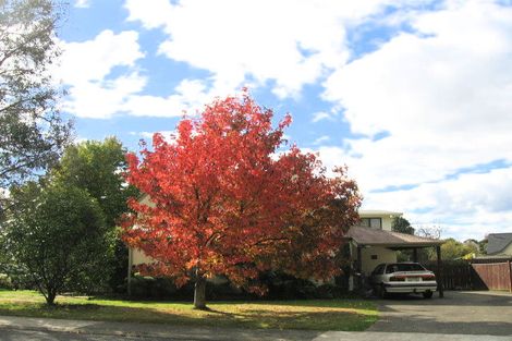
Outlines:
[[[380,297],[388,293],[422,293],[430,299],[437,290],[434,272],[417,263],[380,264],[371,272],[371,284]]]

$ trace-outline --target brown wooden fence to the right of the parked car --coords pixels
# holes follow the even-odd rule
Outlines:
[[[512,292],[512,263],[503,259],[456,260],[442,263],[439,276],[436,263],[425,264],[442,279],[446,290],[508,290]]]

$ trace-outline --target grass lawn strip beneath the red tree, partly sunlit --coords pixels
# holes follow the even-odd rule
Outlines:
[[[0,315],[90,319],[169,325],[277,328],[309,330],[365,330],[378,318],[376,305],[362,300],[268,302],[211,302],[209,312],[190,303],[125,301],[58,296],[47,307],[33,291],[0,290]]]

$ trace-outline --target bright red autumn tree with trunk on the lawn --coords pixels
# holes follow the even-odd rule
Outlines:
[[[171,141],[155,134],[141,159],[127,156],[127,181],[151,205],[130,202],[136,214],[125,241],[155,259],[143,272],[194,281],[196,308],[206,307],[206,279],[218,275],[247,285],[269,269],[315,279],[339,272],[337,253],[357,220],[356,184],[344,168],[328,178],[315,155],[279,149],[291,118],[276,129],[271,120],[248,95],[228,97],[182,120]]]

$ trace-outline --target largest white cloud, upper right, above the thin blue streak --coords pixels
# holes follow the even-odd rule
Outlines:
[[[325,97],[370,136],[340,151],[368,190],[512,160],[512,9],[460,2],[413,25],[434,35],[403,33],[326,82]]]

